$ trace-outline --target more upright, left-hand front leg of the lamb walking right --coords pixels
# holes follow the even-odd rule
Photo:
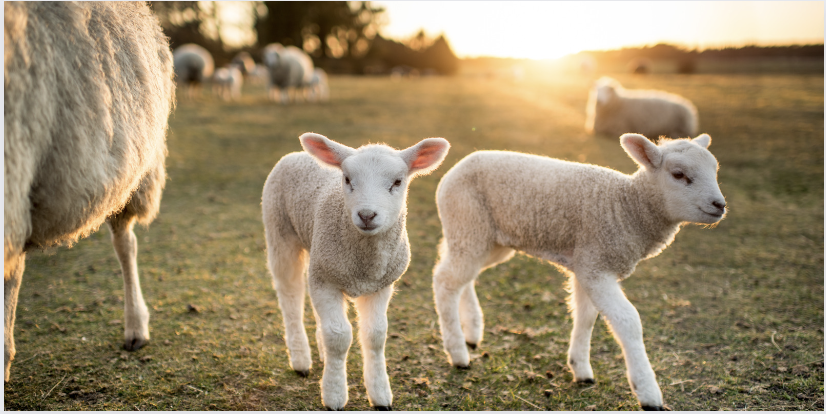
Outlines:
[[[574,275],[571,275],[569,283],[571,284],[570,306],[574,318],[574,329],[571,332],[571,346],[568,348],[568,367],[574,374],[574,381],[593,383],[591,332],[599,312]]]

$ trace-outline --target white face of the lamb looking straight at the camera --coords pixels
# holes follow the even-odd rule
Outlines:
[[[341,189],[350,221],[364,235],[393,227],[405,205],[407,164],[390,148],[370,147],[341,163]]]

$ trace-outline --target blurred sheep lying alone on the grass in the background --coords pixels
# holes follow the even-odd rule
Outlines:
[[[618,136],[687,138],[697,134],[697,108],[687,99],[662,91],[629,90],[603,77],[591,90],[585,130]]]

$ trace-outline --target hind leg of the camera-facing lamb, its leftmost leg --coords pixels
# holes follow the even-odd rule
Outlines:
[[[307,252],[300,247],[288,245],[286,241],[268,241],[267,250],[273,287],[284,320],[290,366],[298,375],[306,377],[312,366],[310,341],[304,329],[304,270],[307,268]]]

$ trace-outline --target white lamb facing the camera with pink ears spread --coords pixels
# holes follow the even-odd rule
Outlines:
[[[393,283],[407,270],[407,187],[435,170],[450,144],[428,138],[402,151],[374,144],[353,149],[324,136],[300,137],[306,152],[284,156],[267,177],[262,212],[267,264],[284,318],[290,366],[309,374],[304,330],[304,272],[324,363],[321,398],[347,404],[347,352],[352,327],[347,301],[358,311],[364,385],[370,404],[392,406],[384,360],[387,306]]]

